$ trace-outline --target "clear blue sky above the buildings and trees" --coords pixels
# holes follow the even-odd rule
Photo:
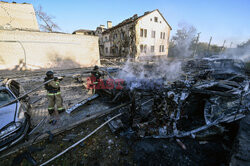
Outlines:
[[[12,2],[9,0],[5,0]],[[113,25],[145,11],[159,9],[176,33],[179,23],[193,25],[201,32],[200,40],[234,46],[250,39],[250,0],[15,0],[17,3],[41,5],[55,16],[61,31],[95,30],[100,24]]]

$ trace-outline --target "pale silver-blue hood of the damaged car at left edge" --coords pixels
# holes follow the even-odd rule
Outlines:
[[[0,130],[15,120],[17,103],[0,108]]]

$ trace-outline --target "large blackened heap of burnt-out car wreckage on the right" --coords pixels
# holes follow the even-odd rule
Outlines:
[[[152,70],[154,66],[145,75]],[[243,62],[192,59],[182,62],[182,71],[173,82],[123,78],[125,86],[116,90],[112,101],[130,100],[132,104],[120,110],[125,112],[120,119],[109,123],[111,130],[133,131],[143,138],[207,139],[222,134],[225,124],[249,112],[249,79]]]

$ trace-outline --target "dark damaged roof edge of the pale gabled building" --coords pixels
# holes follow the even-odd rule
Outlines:
[[[134,16],[132,16],[132,17],[130,17],[130,18],[128,18],[128,19],[122,21],[122,22],[119,23],[118,25],[113,26],[112,28],[107,29],[106,31],[103,32],[103,34],[109,33],[110,31],[112,31],[112,30],[114,30],[114,29],[117,29],[117,28],[119,28],[119,27],[122,27],[122,26],[124,26],[124,25],[127,25],[127,24],[129,24],[129,23],[138,21],[138,20],[141,19],[142,17],[144,17],[144,16],[146,16],[146,15],[148,15],[148,14],[150,14],[150,13],[153,13],[154,11],[158,11],[158,12],[160,13],[160,15],[162,16],[162,18],[164,19],[164,21],[165,21],[165,22],[167,23],[167,25],[170,27],[170,30],[172,30],[172,27],[169,25],[169,23],[167,22],[167,20],[163,17],[163,15],[161,14],[161,12],[160,12],[158,9],[155,9],[155,10],[153,10],[153,11],[145,12],[143,15],[141,15],[141,16],[139,16],[139,17],[137,16],[137,14],[135,14]]]

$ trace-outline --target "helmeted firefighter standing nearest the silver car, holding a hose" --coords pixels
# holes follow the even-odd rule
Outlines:
[[[59,79],[57,77],[54,77],[54,73],[52,71],[48,71],[46,73],[46,77],[44,79],[44,82],[48,80],[53,80],[47,84],[45,84],[45,89],[48,92],[48,112],[50,115],[52,115],[55,112],[55,105],[57,106],[58,113],[62,113],[65,111],[63,107],[63,99],[61,96],[60,91],[60,85],[59,85]]]

